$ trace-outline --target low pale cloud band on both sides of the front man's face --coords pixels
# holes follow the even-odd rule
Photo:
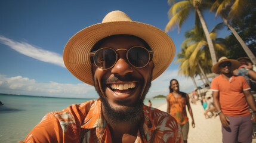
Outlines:
[[[180,91],[190,93],[195,88],[191,79],[178,76],[178,70],[166,70],[152,82],[147,98],[155,97],[156,95],[168,95],[169,81],[171,79],[178,80]],[[202,82],[198,82],[198,85],[199,83]],[[87,85],[86,83],[38,83],[35,79],[22,76],[7,77],[3,74],[0,74],[0,93],[44,97],[98,98],[94,86]]]

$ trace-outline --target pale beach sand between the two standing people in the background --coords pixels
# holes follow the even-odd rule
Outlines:
[[[190,104],[193,111],[193,116],[195,120],[195,128],[192,128],[189,112],[187,111],[187,116],[189,117],[189,136],[187,142],[189,143],[218,143],[222,142],[222,133],[221,133],[221,122],[220,117],[214,117],[210,119],[205,119],[203,115],[204,110],[201,105],[201,102],[196,102],[196,105]],[[158,107],[159,110],[166,111],[167,103]],[[252,143],[256,143],[256,139],[252,139]]]

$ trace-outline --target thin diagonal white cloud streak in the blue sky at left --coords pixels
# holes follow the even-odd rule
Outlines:
[[[47,51],[45,49],[36,48],[35,46],[30,45],[26,42],[17,42],[12,39],[5,38],[5,36],[0,35],[0,43],[9,46],[20,54],[26,55],[28,57],[35,58],[40,61],[44,61],[47,63],[52,63],[61,67],[64,66],[62,55]]]

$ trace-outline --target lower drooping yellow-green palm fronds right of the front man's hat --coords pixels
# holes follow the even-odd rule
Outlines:
[[[194,80],[193,76],[200,76],[202,74],[208,85],[211,85],[208,78],[206,78],[206,74],[211,73],[209,48],[202,27],[197,27],[198,28],[186,32],[185,37],[187,39],[182,43],[182,52],[177,54],[178,59],[175,63],[181,63],[179,66],[179,74],[192,77],[192,80]],[[211,30],[211,33],[209,33],[217,54],[226,52],[224,39],[217,38],[217,31],[222,27],[223,24],[220,23]]]

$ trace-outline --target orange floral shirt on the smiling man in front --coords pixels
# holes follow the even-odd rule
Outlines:
[[[172,116],[146,105],[143,111],[144,120],[135,142],[183,141],[180,126]],[[98,99],[48,113],[24,142],[112,142],[112,139]]]

